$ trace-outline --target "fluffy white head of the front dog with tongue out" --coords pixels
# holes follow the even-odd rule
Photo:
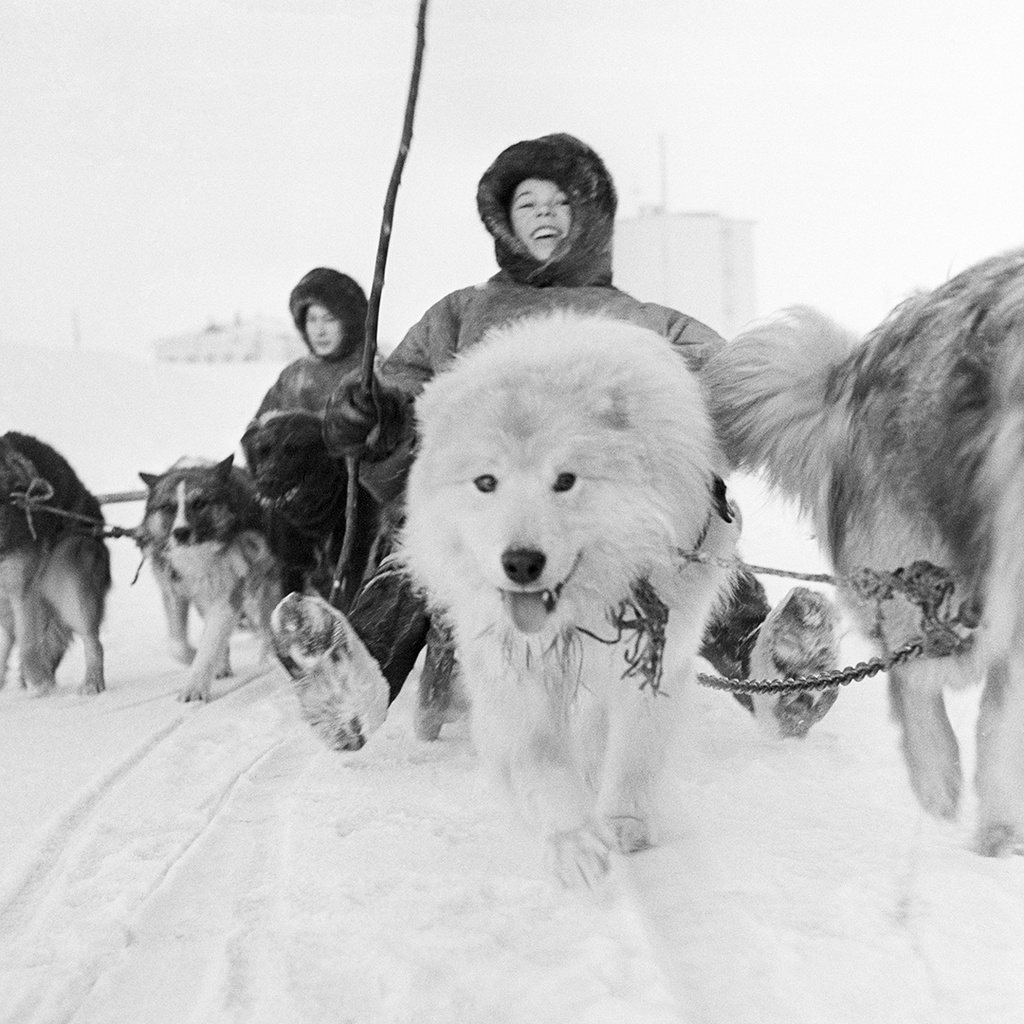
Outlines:
[[[455,370],[417,403],[408,490],[406,552],[438,604],[558,633],[581,616],[594,629],[594,609],[640,578],[664,574],[659,593],[678,586],[672,552],[717,514],[716,449],[698,386],[664,338],[538,319]]]

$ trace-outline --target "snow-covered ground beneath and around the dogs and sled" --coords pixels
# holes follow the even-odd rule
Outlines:
[[[232,451],[278,369],[0,360],[0,431],[53,443],[99,493]],[[785,507],[734,489],[750,561],[822,567]],[[133,525],[140,507],[106,515]],[[668,842],[564,893],[478,780],[464,725],[414,737],[412,687],[365,751],[333,754],[242,635],[216,699],[178,703],[148,568],[133,583],[134,545],[110,544],[109,690],[77,695],[76,646],[54,694],[0,692],[4,1024],[1024,1020],[1024,860],[969,851],[970,800],[957,824],[918,810],[883,678],[804,741],[678,694]],[[843,653],[868,649],[848,635]],[[950,701],[968,771],[976,699]]]

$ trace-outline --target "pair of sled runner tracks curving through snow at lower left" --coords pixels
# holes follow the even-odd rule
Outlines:
[[[0,892],[4,1024],[72,1019],[131,944],[146,903],[240,781],[286,742],[270,677],[250,674],[211,706],[179,713],[46,826]]]

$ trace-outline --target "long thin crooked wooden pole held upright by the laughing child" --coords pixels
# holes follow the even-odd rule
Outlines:
[[[391,171],[387,195],[384,198],[384,213],[381,219],[381,232],[377,241],[377,261],[374,264],[374,283],[370,289],[370,300],[367,306],[366,333],[362,342],[362,362],[360,366],[360,381],[362,393],[369,395],[373,388],[374,360],[377,357],[377,319],[380,312],[381,292],[384,290],[384,268],[387,266],[387,252],[391,244],[391,224],[394,221],[394,205],[401,183],[401,172],[409,156],[409,147],[413,141],[413,120],[416,114],[416,100],[420,93],[420,72],[423,69],[423,49],[427,38],[427,0],[420,0],[420,13],[416,23],[416,54],[413,58],[413,75],[409,83],[409,96],[406,100],[406,120],[401,129],[401,142],[398,145],[398,156]],[[352,544],[355,540],[355,513],[358,501],[359,457],[349,456],[345,459],[348,470],[348,488],[345,493],[345,537],[341,545],[341,554],[331,582],[330,601],[335,607],[347,608],[354,596],[355,581],[349,572]]]

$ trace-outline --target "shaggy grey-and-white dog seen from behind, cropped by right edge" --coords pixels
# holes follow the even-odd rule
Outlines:
[[[973,643],[889,673],[910,782],[952,817],[962,787],[944,687],[984,676],[977,849],[1024,852],[1024,249],[907,299],[862,341],[797,308],[754,326],[709,368],[729,454],[798,498],[843,579],[914,561],[948,573]],[[922,631],[916,605],[844,587],[886,650]]]

